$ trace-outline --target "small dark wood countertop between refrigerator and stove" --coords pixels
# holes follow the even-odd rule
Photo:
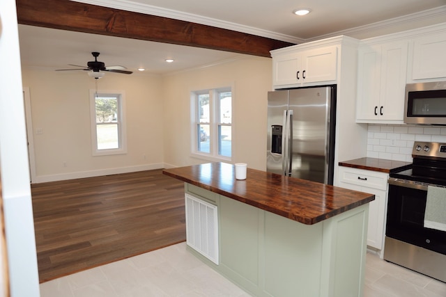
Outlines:
[[[339,162],[339,166],[386,172],[386,173],[399,170],[406,170],[409,169],[411,165],[412,163],[410,162],[392,161],[392,160],[367,158],[367,157]]]

